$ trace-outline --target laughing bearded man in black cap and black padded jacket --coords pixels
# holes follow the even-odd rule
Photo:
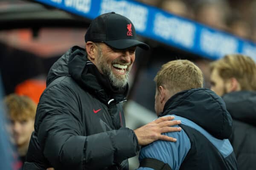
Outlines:
[[[173,117],[136,130],[125,127],[121,103],[137,46],[133,23],[114,12],[92,21],[85,49],[74,46],[52,66],[35,118],[25,170],[128,170],[141,145],[178,131]],[[138,113],[139,114],[139,113]]]

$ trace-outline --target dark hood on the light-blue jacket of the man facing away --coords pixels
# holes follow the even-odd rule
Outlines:
[[[160,116],[167,114],[189,119],[218,139],[227,139],[232,133],[232,118],[223,99],[206,88],[175,94],[166,102]]]

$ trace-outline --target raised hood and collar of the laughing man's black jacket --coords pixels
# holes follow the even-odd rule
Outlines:
[[[72,77],[81,88],[95,95],[106,105],[123,102],[128,94],[128,84],[120,90],[114,88],[110,81],[87,59],[85,49],[79,46],[70,48],[52,65],[47,77],[47,85],[61,76]]]

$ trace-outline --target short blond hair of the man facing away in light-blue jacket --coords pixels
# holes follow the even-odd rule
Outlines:
[[[160,85],[173,94],[203,87],[202,71],[193,62],[186,59],[178,59],[162,65],[154,78],[157,87]]]

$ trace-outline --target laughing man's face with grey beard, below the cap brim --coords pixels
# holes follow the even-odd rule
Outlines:
[[[95,65],[110,79],[114,87],[123,88],[127,84],[129,72],[135,60],[135,48],[117,50],[101,43]]]

